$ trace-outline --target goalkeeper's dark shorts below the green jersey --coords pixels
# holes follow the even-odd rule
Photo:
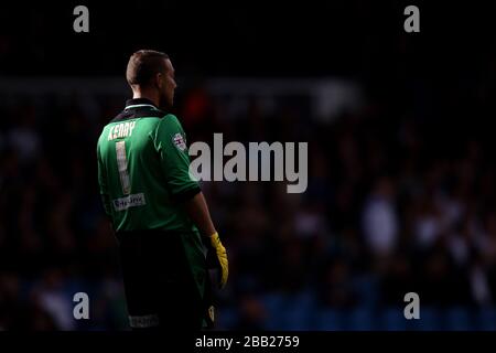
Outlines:
[[[116,236],[131,328],[200,330],[205,302],[193,280],[181,235],[140,231]]]

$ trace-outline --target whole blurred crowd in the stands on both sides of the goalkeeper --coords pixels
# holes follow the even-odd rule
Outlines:
[[[96,140],[121,96],[0,106],[0,329],[123,330],[125,296],[96,179]],[[88,106],[91,108],[88,109]],[[227,113],[202,87],[174,113],[188,143],[308,141],[309,186],[204,182],[229,253],[218,329],[496,329],[496,169],[486,142],[448,141],[370,99],[333,120],[304,97]],[[164,256],[166,250],[164,249]],[[73,319],[87,292],[90,320]],[[405,295],[421,318],[403,318]]]

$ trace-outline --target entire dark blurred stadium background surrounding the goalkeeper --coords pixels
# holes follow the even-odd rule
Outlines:
[[[77,4],[89,33],[73,31]],[[420,33],[403,31],[408,4]],[[301,199],[272,183],[205,185],[231,259],[220,329],[494,330],[495,15],[482,1],[2,3],[0,85],[123,79],[150,47],[176,68],[188,141],[309,141]],[[208,90],[218,77],[345,78],[365,98],[332,121],[303,94],[270,113],[254,94],[227,114]],[[126,98],[1,90],[0,328],[127,328],[94,153]],[[363,221],[378,205],[397,225],[385,253]],[[89,321],[72,319],[76,291],[93,298]],[[402,318],[408,291],[420,321]]]

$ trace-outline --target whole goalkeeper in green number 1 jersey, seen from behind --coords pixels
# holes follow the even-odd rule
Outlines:
[[[126,76],[133,98],[105,126],[97,159],[105,212],[119,244],[130,327],[200,330],[214,321],[207,259],[219,269],[220,288],[228,260],[190,174],[184,130],[166,113],[176,87],[174,68],[164,53],[138,51]]]

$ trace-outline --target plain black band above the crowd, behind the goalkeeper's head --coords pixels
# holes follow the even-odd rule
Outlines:
[[[3,6],[2,63],[9,66],[2,73],[120,74],[127,63],[121,53],[148,46],[212,75],[368,77],[419,68],[416,74],[429,75],[456,67],[462,54],[475,64],[475,56],[492,52],[492,4],[422,3],[422,31],[416,35],[402,31],[406,1],[89,1],[85,35],[67,31],[77,4],[83,3]]]

